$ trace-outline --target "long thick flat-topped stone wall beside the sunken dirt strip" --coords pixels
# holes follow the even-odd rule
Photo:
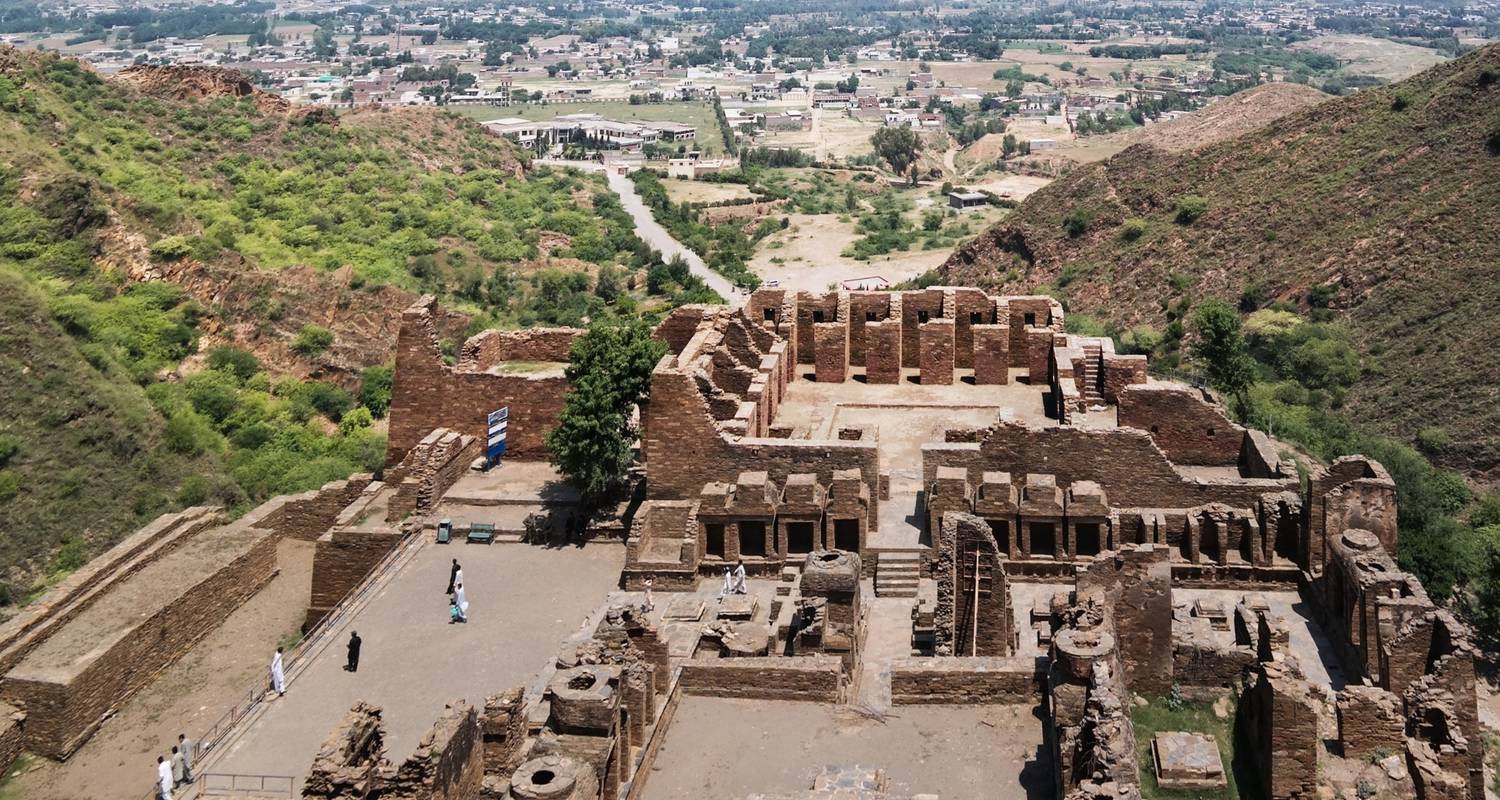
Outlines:
[[[50,758],[76,750],[111,708],[272,579],[276,540],[246,524],[196,536],[27,654],[0,681],[0,695],[27,713],[26,749]]]

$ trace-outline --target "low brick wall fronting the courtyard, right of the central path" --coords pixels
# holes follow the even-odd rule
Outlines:
[[[894,705],[1038,702],[1046,657],[932,657],[891,662]]]

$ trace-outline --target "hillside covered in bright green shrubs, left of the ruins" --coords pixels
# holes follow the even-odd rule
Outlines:
[[[648,266],[600,179],[458,116],[0,48],[0,594],[164,510],[378,467],[417,294],[452,347],[670,303]]]

